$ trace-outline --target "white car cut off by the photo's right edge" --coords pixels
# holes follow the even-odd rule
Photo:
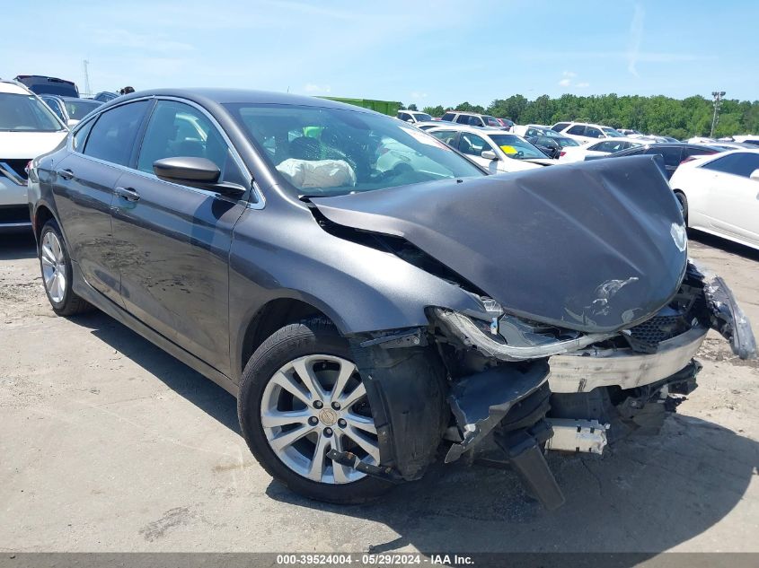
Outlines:
[[[759,249],[759,150],[684,162],[669,185],[688,227]]]

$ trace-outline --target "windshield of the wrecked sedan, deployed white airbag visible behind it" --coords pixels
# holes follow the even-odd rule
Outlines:
[[[434,136],[349,109],[225,104],[269,166],[300,195],[335,196],[485,175]]]

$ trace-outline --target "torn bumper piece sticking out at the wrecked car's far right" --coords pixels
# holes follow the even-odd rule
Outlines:
[[[721,276],[704,277],[703,295],[711,314],[711,327],[730,342],[741,359],[756,358],[756,339],[751,323]]]

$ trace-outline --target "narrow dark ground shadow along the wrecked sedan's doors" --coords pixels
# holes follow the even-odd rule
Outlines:
[[[154,375],[158,380],[215,418],[227,428],[240,433],[237,421],[237,402],[225,389],[190,369],[145,337],[127,328],[101,311],[83,314],[70,321],[88,328],[132,362]]]

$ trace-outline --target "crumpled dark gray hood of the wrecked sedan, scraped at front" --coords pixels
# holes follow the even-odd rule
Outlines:
[[[311,201],[333,223],[409,240],[508,312],[586,332],[647,319],[687,262],[682,215],[650,156]]]

